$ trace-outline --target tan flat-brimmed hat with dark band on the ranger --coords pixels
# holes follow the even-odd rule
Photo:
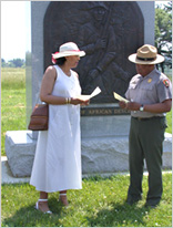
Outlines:
[[[157,54],[155,46],[150,44],[144,44],[138,49],[138,53],[131,54],[129,60],[138,64],[156,64],[164,61],[164,56]]]

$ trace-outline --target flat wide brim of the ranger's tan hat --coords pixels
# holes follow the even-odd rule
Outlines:
[[[144,60],[139,60],[136,58],[136,54],[131,54],[129,58],[129,61],[136,63],[136,64],[145,64],[145,65],[151,65],[151,64],[157,64],[164,61],[164,56],[162,56],[161,54],[156,54],[156,59],[153,61],[144,61]]]

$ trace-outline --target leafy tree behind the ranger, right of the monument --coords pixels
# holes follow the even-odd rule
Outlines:
[[[164,9],[155,9],[155,46],[157,52],[165,56],[165,60],[172,59],[172,2],[170,1]],[[165,62],[172,68],[172,61]],[[164,63],[161,64],[164,72]]]

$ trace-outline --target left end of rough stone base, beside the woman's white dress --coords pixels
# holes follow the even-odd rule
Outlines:
[[[14,177],[31,175],[37,139],[29,136],[31,131],[9,131],[6,133],[6,155]]]

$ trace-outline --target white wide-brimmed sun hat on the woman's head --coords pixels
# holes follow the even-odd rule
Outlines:
[[[78,45],[73,42],[68,42],[59,48],[59,52],[55,52],[52,54],[53,59],[59,59],[63,56],[70,56],[70,55],[79,55],[79,56],[84,56],[85,52],[80,51]]]

